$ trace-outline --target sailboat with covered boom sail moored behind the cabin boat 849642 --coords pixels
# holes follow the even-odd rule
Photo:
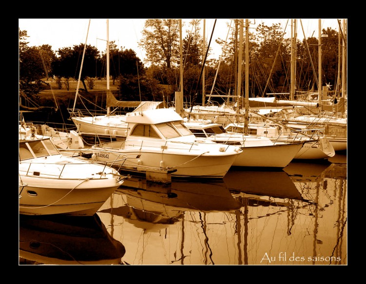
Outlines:
[[[90,20],[89,20],[90,25]],[[88,27],[89,31],[89,27]],[[86,37],[86,41],[88,36]],[[105,115],[93,115],[91,112],[75,109],[76,101],[78,97],[79,82],[81,77],[82,62],[85,55],[86,42],[84,45],[84,53],[81,61],[81,67],[79,72],[79,80],[77,82],[77,91],[74,101],[74,107],[68,109],[70,118],[77,127],[78,133],[83,137],[95,137],[99,141],[107,140],[124,140],[126,137],[127,122],[124,114],[116,114],[116,110],[120,107],[134,107],[134,111],[144,111],[156,108],[164,107],[163,102],[159,101],[118,101],[110,90],[110,75],[109,75],[109,20],[107,19],[107,49],[106,49],[106,61],[107,61],[107,114]],[[115,106],[116,109],[111,111],[111,107]]]

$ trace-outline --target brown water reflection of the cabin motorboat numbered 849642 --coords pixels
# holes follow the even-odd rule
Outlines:
[[[184,220],[186,211],[234,213],[241,207],[222,182],[162,185],[130,178],[114,195],[115,198],[120,195],[125,204],[117,206],[112,203],[110,208],[103,210],[102,207],[99,212],[123,216],[127,222],[142,228],[144,233],[158,232],[169,224]]]

